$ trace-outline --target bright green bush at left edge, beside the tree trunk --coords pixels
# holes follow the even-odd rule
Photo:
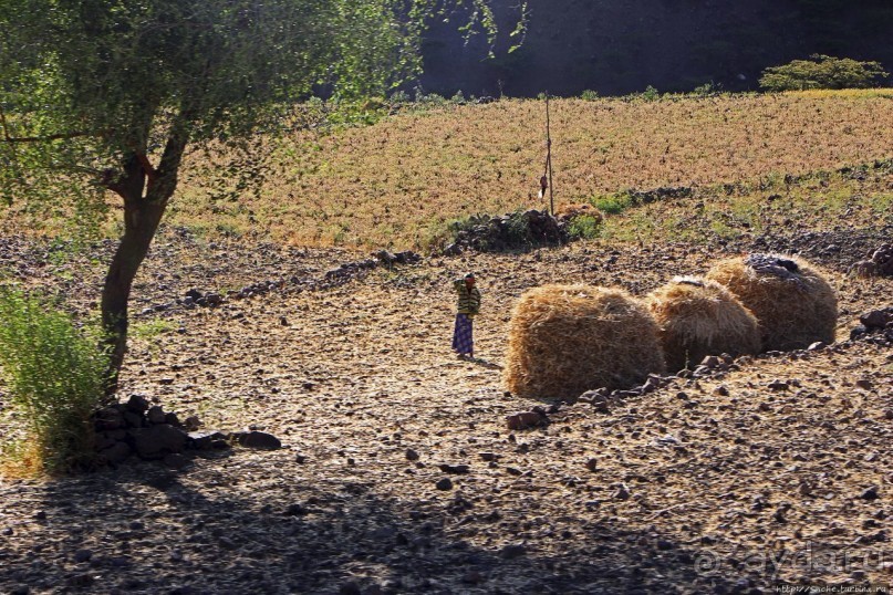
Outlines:
[[[48,300],[0,288],[0,373],[29,442],[11,451],[32,452],[33,471],[64,472],[92,458],[91,415],[108,365],[98,340],[95,327],[77,328]]]

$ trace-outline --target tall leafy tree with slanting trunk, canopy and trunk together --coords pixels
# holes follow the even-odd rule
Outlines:
[[[116,390],[127,303],[187,147],[281,131],[315,90],[382,93],[419,71],[426,21],[487,0],[3,0],[0,197],[123,205],[102,291]],[[243,145],[242,145],[243,146]]]

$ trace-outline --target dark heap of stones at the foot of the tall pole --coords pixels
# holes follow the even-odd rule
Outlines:
[[[455,241],[444,249],[445,255],[457,255],[466,250],[526,250],[539,246],[558,246],[570,240],[567,221],[555,219],[547,210],[537,209],[497,217],[476,215],[455,225],[453,232]]]

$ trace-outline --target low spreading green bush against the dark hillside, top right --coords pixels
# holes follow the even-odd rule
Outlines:
[[[812,54],[810,60],[795,60],[789,64],[766,69],[759,83],[766,91],[864,88],[874,86],[886,76],[880,62]]]

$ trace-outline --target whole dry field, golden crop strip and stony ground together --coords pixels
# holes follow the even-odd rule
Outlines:
[[[285,448],[183,470],[0,480],[0,593],[756,594],[893,582],[893,348],[847,341],[860,313],[893,305],[893,279],[845,275],[893,237],[893,173],[873,164],[893,156],[891,106],[884,93],[557,102],[562,197],[572,184],[574,198],[666,185],[694,195],[619,209],[595,240],[429,257],[343,284],[325,272],[371,246],[413,246],[438,218],[531,203],[537,104],[398,115],[314,139],[320,149],[291,164],[308,168],[293,199],[283,177],[245,211],[218,205],[200,218],[179,200],[138,278],[123,394],[210,429],[256,426]],[[667,138],[675,157],[662,163]],[[247,231],[249,216],[279,241],[215,231]],[[335,223],[354,226],[341,241],[362,250],[289,246],[331,243]],[[87,313],[112,248],[79,254],[7,233],[0,278]],[[525,290],[643,295],[749,250],[799,252],[829,272],[838,343],[508,429],[506,415],[550,405],[500,379]],[[467,270],[484,292],[476,362],[448,348],[449,280]],[[264,281],[283,283],[215,309],[147,311],[191,288]],[[0,389],[8,435],[2,401]]]

